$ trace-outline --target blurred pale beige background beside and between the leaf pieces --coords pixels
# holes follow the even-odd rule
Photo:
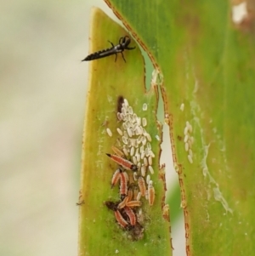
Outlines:
[[[92,6],[114,16],[97,0],[1,4],[1,255],[77,255]],[[173,255],[184,255],[182,223]]]

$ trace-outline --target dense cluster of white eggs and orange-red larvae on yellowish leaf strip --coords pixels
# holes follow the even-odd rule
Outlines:
[[[108,208],[114,210],[118,224],[127,228],[130,225],[141,225],[142,203],[147,201],[150,206],[154,203],[155,190],[150,175],[154,174],[152,162],[155,154],[151,150],[150,134],[145,129],[146,118],[138,117],[126,99],[122,99],[122,108],[119,111],[117,118],[120,126],[116,128],[120,135],[116,140],[118,146],[112,146],[114,154],[107,156],[120,167],[113,174],[111,185],[120,184],[121,201],[115,206],[112,206],[114,203],[111,202]],[[143,111],[147,111],[145,103]],[[110,128],[107,128],[106,132],[112,136]],[[145,201],[141,201],[143,197]]]

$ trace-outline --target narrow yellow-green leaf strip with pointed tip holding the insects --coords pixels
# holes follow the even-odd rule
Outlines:
[[[121,26],[110,20],[102,11],[94,9],[91,20],[91,45],[89,52],[111,47],[119,38],[127,35]],[[132,41],[130,46],[134,46]],[[157,87],[145,91],[144,60],[138,45],[134,50],[93,60],[89,63],[89,85],[82,143],[82,189],[80,191],[80,227],[79,255],[166,255],[170,253],[169,223],[162,216],[165,189],[161,170],[159,176],[158,156],[161,125],[156,122]],[[116,128],[122,128],[116,112],[118,99],[122,96],[138,117],[147,119],[146,130],[151,136],[151,148],[156,157],[153,159],[155,174],[151,174],[156,191],[153,206],[142,201],[143,230],[139,234],[134,229],[125,230],[116,223],[114,212],[105,206],[105,202],[119,202],[119,189],[111,189],[112,174],[118,165],[105,153],[113,153],[111,146],[122,149],[122,137]],[[143,111],[143,105],[148,110]],[[110,128],[112,136],[106,133]],[[120,144],[120,145],[119,145]],[[127,171],[133,177],[132,171]],[[134,182],[136,184],[136,182]],[[135,208],[136,213],[139,212]],[[141,236],[139,236],[141,235]]]

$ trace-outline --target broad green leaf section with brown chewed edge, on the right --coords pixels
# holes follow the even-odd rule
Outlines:
[[[105,2],[164,77],[161,91],[181,187],[187,253],[252,255],[252,14],[235,26],[230,20],[232,7],[222,0]],[[182,104],[184,111],[180,110]],[[194,137],[192,163],[184,148],[186,122],[192,126],[189,138]]]

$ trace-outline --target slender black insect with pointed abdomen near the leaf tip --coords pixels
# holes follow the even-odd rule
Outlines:
[[[109,43],[111,43],[110,41],[108,41]],[[116,46],[114,46],[113,43],[111,43],[112,47],[111,48],[106,48],[104,50],[95,52],[94,54],[89,54],[84,60],[97,60],[97,59],[101,59],[101,58],[105,58],[107,56],[110,56],[112,54],[115,54],[117,57],[117,54],[121,53],[122,54],[122,58],[123,60],[126,62],[124,55],[123,55],[123,51],[124,50],[133,50],[135,47],[128,47],[128,44],[131,42],[130,37],[125,36],[125,37],[121,37],[119,40],[119,44],[117,44]],[[115,61],[116,61],[116,57],[115,57]]]

